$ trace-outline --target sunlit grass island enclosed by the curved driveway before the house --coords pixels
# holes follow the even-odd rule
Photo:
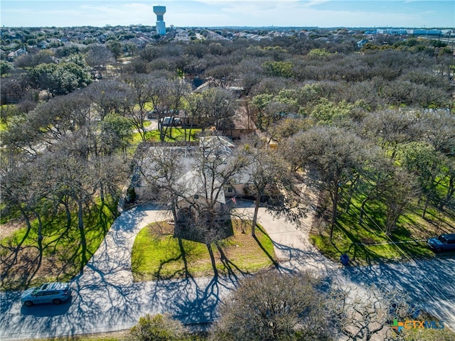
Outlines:
[[[211,246],[220,275],[250,274],[274,264],[274,247],[262,227],[258,225],[256,240],[247,227],[251,222],[244,224],[242,233],[241,222],[233,220],[234,236],[220,242],[220,249]],[[184,239],[180,244],[173,237],[173,225],[167,222],[154,222],[139,232],[132,250],[132,269],[136,281],[214,274],[205,244]]]

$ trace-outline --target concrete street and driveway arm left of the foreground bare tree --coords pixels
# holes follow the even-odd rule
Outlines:
[[[72,281],[73,295],[66,303],[26,308],[20,293],[1,293],[0,340],[124,330],[146,313],[169,312],[184,323],[212,321],[220,298],[235,286],[229,278],[133,282],[134,237],[149,222],[164,219],[164,212],[153,207],[124,212]]]

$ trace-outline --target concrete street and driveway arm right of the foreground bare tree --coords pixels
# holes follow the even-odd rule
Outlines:
[[[275,220],[263,210],[259,222],[274,241],[280,268],[286,271],[309,270],[338,283],[342,288],[367,288],[378,285],[407,294],[412,302],[455,331],[455,259],[454,254],[439,254],[430,260],[382,263],[372,266],[343,267],[326,259],[309,242],[313,219],[309,212],[297,230],[291,224]]]

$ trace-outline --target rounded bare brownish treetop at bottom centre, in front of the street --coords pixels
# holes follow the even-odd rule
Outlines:
[[[311,274],[275,271],[243,279],[223,301],[212,340],[332,340],[318,283]]]

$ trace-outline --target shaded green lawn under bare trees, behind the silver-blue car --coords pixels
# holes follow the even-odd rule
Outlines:
[[[26,227],[17,229],[9,237],[1,239],[2,289],[20,289],[46,281],[69,281],[78,274],[85,264],[82,264],[82,247],[76,213],[73,212],[69,229],[67,229],[63,211],[42,217],[43,260],[39,269],[36,266],[39,254],[38,222],[36,220],[31,222],[32,229],[17,253],[16,264],[12,261],[14,249],[25,237]],[[87,210],[84,216],[87,259],[90,259],[98,249],[113,221],[114,216],[106,205],[102,208],[100,205],[94,205],[90,211]],[[8,272],[6,273],[6,271]]]

